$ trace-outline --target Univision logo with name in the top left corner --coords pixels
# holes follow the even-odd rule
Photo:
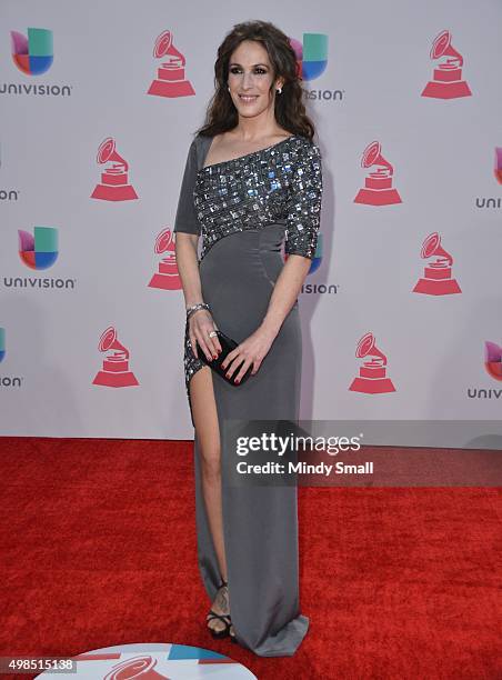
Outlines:
[[[54,60],[52,31],[41,28],[29,28],[27,36],[19,31],[10,32],[12,42],[12,61],[26,76],[47,73]],[[7,83],[0,86],[0,94],[71,94],[71,86]]]

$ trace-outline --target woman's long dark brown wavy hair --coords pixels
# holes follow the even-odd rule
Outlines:
[[[289,38],[273,23],[268,21],[244,21],[238,23],[225,36],[218,48],[214,63],[214,94],[212,96],[205,121],[198,133],[214,137],[237,127],[239,114],[228,90],[229,62],[232,53],[244,40],[260,42],[269,54],[273,70],[273,82],[283,79],[282,94],[275,96],[275,120],[292,134],[312,141],[315,128],[307,116],[302,100],[302,80],[297,66],[297,56]],[[271,90],[273,89],[273,82]]]

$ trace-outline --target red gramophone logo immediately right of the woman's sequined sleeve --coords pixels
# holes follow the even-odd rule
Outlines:
[[[396,189],[392,188],[392,176],[394,169],[382,156],[380,142],[371,142],[362,154],[361,167],[371,168],[376,166],[373,172],[369,172],[364,180],[364,188],[360,189],[354,198],[354,203],[365,206],[391,206],[401,203],[401,197]]]

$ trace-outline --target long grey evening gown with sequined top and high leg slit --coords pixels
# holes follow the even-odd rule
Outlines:
[[[217,327],[241,342],[260,326],[288,254],[312,259],[321,214],[319,148],[301,136],[203,167],[212,138],[189,149],[174,232],[202,237],[204,302]],[[298,421],[302,337],[298,299],[255,376],[239,387],[212,372],[220,433],[225,419]],[[204,364],[184,336],[185,388]],[[194,423],[193,423],[194,424]],[[234,454],[234,451],[233,451]],[[201,490],[194,432],[198,556],[210,600],[221,582]],[[230,610],[238,641],[263,657],[292,656],[309,628],[300,613],[295,486],[229,486],[221,441],[223,533]],[[234,460],[233,460],[234,463]]]

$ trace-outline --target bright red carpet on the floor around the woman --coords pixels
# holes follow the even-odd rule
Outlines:
[[[0,447],[1,656],[178,642],[260,680],[502,678],[501,489],[300,489],[311,628],[261,659],[204,630],[193,442]]]

